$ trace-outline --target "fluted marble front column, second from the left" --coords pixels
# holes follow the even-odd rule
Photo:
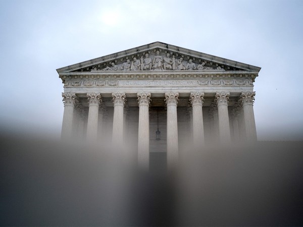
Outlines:
[[[100,93],[86,94],[88,101],[88,120],[86,139],[96,141],[98,138],[98,110],[101,100]]]

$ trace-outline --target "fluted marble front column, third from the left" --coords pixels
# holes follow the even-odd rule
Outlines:
[[[123,108],[125,104],[125,93],[112,93],[114,103],[113,137],[115,146],[121,147],[123,144]]]

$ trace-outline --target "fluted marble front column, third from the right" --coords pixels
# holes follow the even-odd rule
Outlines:
[[[204,125],[202,105],[204,102],[204,93],[190,93],[190,103],[192,106],[192,133],[195,149],[200,149],[204,145]]]

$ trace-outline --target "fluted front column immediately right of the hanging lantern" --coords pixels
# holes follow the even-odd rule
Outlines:
[[[177,104],[179,93],[165,93],[167,106],[167,168],[173,169],[178,163],[178,124],[177,124]]]

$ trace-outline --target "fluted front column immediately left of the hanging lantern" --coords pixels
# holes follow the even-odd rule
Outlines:
[[[138,166],[149,168],[149,103],[150,93],[137,93],[139,105]]]

